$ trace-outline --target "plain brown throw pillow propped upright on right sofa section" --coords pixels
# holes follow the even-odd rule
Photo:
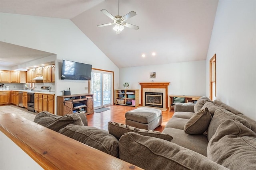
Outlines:
[[[191,135],[202,134],[208,129],[211,119],[212,116],[208,108],[201,109],[192,115],[184,125],[184,132]]]

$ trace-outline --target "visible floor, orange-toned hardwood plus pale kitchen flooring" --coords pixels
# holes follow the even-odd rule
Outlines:
[[[112,105],[112,106],[108,106],[107,108],[110,108],[110,110],[103,111],[101,113],[86,115],[88,120],[88,126],[97,127],[99,129],[104,129],[108,131],[109,121],[125,123],[124,114],[126,113],[126,111],[133,110],[136,107]],[[22,107],[13,106],[13,105],[0,106],[0,114],[5,114],[5,113],[16,113],[26,119],[29,119],[30,121],[34,121],[34,117],[36,115],[36,113],[27,111],[27,109]],[[163,123],[162,125],[158,126],[154,130],[162,132],[166,123],[172,117],[173,113],[174,113],[173,111],[171,112],[162,111]]]

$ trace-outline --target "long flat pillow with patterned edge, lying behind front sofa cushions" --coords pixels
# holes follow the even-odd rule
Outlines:
[[[116,123],[111,121],[108,122],[108,132],[111,135],[114,135],[114,137],[116,137],[116,139],[118,140],[122,135],[124,135],[124,133],[135,132],[144,136],[156,137],[156,138],[164,139],[166,141],[172,141],[172,136],[168,135],[167,133],[162,133],[154,130],[138,129],[136,127],[128,126],[126,124]]]

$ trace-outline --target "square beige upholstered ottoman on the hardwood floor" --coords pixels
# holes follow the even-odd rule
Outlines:
[[[125,124],[140,129],[154,130],[162,123],[162,111],[150,107],[138,107],[125,113]]]

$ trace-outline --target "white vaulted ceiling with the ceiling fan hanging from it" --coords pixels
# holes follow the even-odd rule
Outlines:
[[[119,0],[119,15],[136,12],[127,23],[140,28],[116,35],[114,25],[96,25],[112,22],[100,10],[118,15],[118,0],[0,0],[0,12],[70,19],[119,68],[205,60],[217,6],[218,0]]]

